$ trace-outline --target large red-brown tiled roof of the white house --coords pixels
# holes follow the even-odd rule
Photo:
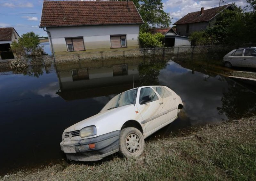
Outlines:
[[[131,1],[44,1],[40,26],[143,23]]]

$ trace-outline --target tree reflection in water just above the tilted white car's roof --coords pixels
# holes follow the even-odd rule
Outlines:
[[[160,70],[166,67],[166,63],[167,62],[140,64],[139,76],[141,85],[159,85],[158,76]]]

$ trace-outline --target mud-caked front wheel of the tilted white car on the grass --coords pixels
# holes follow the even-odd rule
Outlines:
[[[119,155],[124,157],[138,157],[144,149],[144,137],[135,127],[127,127],[121,130],[119,136]]]

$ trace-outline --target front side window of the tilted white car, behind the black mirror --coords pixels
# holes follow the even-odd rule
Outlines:
[[[153,102],[155,100],[158,100],[158,97],[150,87],[140,89],[140,99],[139,99],[140,104]]]

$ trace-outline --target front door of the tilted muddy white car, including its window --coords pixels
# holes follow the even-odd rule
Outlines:
[[[143,102],[143,98],[148,96],[150,100]],[[136,105],[143,119],[141,124],[145,126],[146,136],[152,134],[155,128],[166,122],[166,120],[161,117],[164,112],[162,98],[158,97],[151,87],[139,88]]]

